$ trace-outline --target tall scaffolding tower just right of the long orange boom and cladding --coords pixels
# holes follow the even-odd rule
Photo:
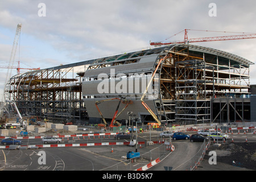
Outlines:
[[[213,84],[213,81],[206,80],[206,68],[213,72],[213,67],[207,66],[204,60],[175,63],[176,122],[210,121],[210,99],[207,98],[206,84]]]

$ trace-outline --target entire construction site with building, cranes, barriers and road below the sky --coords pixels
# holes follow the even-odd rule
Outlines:
[[[188,39],[185,29],[182,42],[40,69],[13,66],[21,28],[9,66],[0,67],[7,69],[0,148],[14,150],[2,150],[1,170],[255,169],[254,63],[193,43],[256,34]],[[202,161],[210,144],[218,166]],[[46,151],[42,165],[39,152]]]

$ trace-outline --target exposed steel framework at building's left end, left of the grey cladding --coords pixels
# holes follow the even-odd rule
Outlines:
[[[74,78],[68,78],[70,75]],[[88,118],[81,95],[81,77],[73,67],[42,69],[15,75],[8,96],[20,113],[65,123]]]

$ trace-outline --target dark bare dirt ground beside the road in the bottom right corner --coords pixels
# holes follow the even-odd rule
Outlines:
[[[254,142],[225,143],[220,147],[210,146],[204,156],[205,161],[208,161],[211,156],[208,155],[209,151],[216,151],[217,163],[230,165],[230,170],[234,169],[232,167],[256,170],[256,143]],[[236,164],[233,165],[233,161]]]

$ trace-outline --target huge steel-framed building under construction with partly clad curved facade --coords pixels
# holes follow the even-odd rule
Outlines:
[[[127,112],[143,122],[246,121],[251,64],[172,44],[15,75],[5,94],[21,114],[53,122],[125,121]]]

